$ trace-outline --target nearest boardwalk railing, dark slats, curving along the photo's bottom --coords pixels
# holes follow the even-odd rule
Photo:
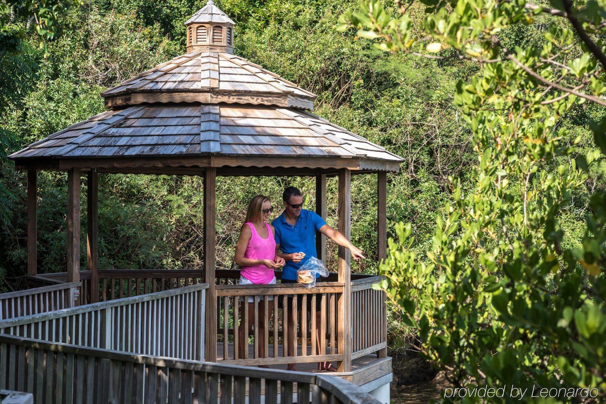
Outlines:
[[[84,369],[86,371],[84,372]],[[36,377],[35,377],[36,375]],[[296,385],[296,386],[295,386]],[[0,388],[36,402],[378,403],[335,376],[170,359],[0,334]],[[247,394],[248,392],[248,394]]]

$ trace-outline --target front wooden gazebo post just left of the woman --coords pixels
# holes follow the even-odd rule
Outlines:
[[[216,176],[217,169],[207,168],[204,173],[204,281],[208,283],[205,310],[205,355],[207,362],[217,360],[217,291],[215,286],[216,247]]]

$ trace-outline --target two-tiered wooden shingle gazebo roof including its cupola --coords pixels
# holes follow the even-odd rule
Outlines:
[[[110,88],[102,93],[110,110],[10,158],[22,168],[128,159],[130,167],[399,170],[401,157],[311,114],[315,94],[232,55],[234,22],[212,0],[185,24],[186,55]]]

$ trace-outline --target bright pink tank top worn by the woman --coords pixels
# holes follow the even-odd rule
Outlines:
[[[252,235],[248,241],[244,257],[250,259],[270,259],[273,261],[276,257],[276,240],[273,237],[273,233],[271,233],[269,225],[265,223],[265,227],[267,227],[267,239],[264,239],[255,230],[255,225],[251,222],[247,222],[246,224],[250,226]],[[270,283],[275,276],[273,269],[267,268],[263,264],[245,265],[242,267],[240,274],[253,283]]]

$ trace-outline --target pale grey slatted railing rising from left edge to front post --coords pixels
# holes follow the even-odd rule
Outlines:
[[[0,321],[0,333],[128,353],[204,359],[208,285]]]

